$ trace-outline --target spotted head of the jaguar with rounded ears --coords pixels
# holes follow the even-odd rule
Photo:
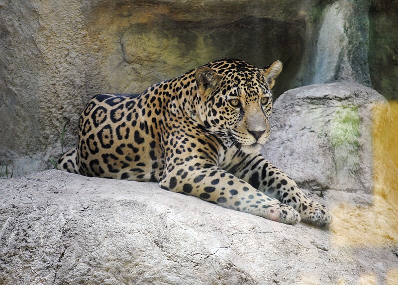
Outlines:
[[[271,88],[281,71],[279,60],[262,69],[236,59],[199,67],[196,109],[204,126],[243,150],[258,151],[270,135]]]

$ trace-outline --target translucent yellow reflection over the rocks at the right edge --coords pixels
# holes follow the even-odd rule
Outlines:
[[[336,247],[398,247],[398,102],[373,108],[373,186],[368,205],[341,203],[332,209],[331,242]],[[398,284],[398,264],[382,277]],[[346,284],[340,280],[339,284]],[[374,272],[364,272],[358,284],[378,284]]]

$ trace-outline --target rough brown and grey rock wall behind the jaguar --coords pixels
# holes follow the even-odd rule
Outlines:
[[[52,167],[92,95],[139,92],[218,58],[282,60],[277,96],[340,80],[384,91],[394,50],[383,49],[382,65],[373,55],[396,11],[384,2],[2,0],[0,165],[14,176]]]

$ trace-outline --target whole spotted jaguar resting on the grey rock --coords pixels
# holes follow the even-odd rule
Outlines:
[[[271,88],[281,71],[280,61],[257,69],[225,59],[140,94],[96,95],[81,114],[77,147],[58,168],[158,182],[287,224],[327,225],[329,211],[259,154],[270,134]]]

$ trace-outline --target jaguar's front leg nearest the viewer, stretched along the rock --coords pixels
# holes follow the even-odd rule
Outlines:
[[[298,212],[292,206],[265,195],[249,183],[216,166],[205,168],[199,164],[169,165],[160,186],[281,223],[296,224],[300,220]]]

